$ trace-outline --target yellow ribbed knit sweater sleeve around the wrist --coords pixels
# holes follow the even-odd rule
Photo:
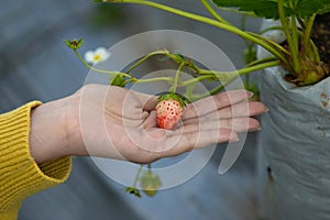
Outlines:
[[[30,114],[41,102],[32,101],[0,114],[0,219],[16,219],[21,202],[29,196],[67,179],[70,157],[37,165],[30,155]]]

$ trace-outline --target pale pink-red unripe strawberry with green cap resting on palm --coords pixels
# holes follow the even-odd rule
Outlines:
[[[175,128],[184,113],[185,102],[174,94],[162,95],[156,106],[156,120],[162,129],[172,130]]]

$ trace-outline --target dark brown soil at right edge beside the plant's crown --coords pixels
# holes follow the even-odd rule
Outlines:
[[[330,13],[317,15],[311,33],[311,38],[319,48],[321,61],[330,69]]]

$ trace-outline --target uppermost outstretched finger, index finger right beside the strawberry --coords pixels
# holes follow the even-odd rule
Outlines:
[[[251,96],[252,94],[246,90],[232,90],[204,98],[186,107],[183,120],[205,116],[244,100],[248,101]]]

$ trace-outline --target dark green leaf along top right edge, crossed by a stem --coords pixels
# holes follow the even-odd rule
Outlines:
[[[257,16],[278,19],[277,0],[212,0],[220,8],[239,8],[240,11],[254,12]],[[330,0],[284,0],[287,16],[308,18],[314,13],[330,12]]]

